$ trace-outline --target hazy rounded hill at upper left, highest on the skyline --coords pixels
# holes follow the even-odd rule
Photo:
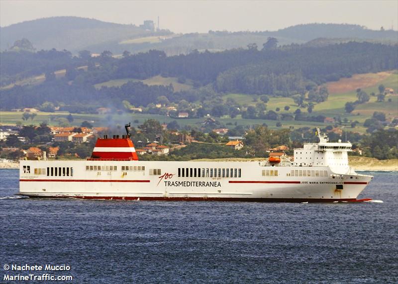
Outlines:
[[[10,48],[16,40],[27,38],[37,50],[56,48],[76,52],[96,44],[152,34],[135,25],[81,17],[51,17],[1,27],[0,49]]]

